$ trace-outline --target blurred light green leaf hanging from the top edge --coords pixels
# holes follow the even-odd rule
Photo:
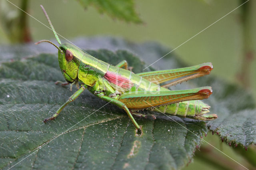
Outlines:
[[[112,18],[126,22],[142,23],[134,10],[133,0],[78,0],[84,8],[94,6],[100,13],[106,13]]]

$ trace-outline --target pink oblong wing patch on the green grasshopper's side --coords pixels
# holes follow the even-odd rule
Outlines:
[[[113,73],[111,71],[107,71],[104,77],[111,83],[114,83],[115,85],[118,85],[124,89],[130,89],[133,86],[132,81],[127,79],[126,77],[122,77],[121,75],[118,75],[116,73]]]

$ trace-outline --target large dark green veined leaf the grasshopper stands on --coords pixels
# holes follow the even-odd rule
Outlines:
[[[126,59],[136,72],[144,68],[143,62],[127,51],[88,52],[113,64]],[[44,124],[42,120],[72,95],[68,87],[54,84],[63,80],[56,55],[4,62],[0,73],[1,168],[25,158],[15,167],[179,169],[191,160],[200,143],[200,138],[166,118],[136,119],[143,127],[143,135],[138,137],[124,111],[111,104],[100,109],[106,102],[88,91],[55,121]],[[207,132],[202,121],[172,119],[198,136]]]

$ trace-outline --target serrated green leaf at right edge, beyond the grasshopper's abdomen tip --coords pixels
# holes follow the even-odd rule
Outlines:
[[[221,81],[213,84],[216,95],[215,99],[209,100],[209,104],[211,110],[218,114],[218,119],[208,122],[208,127],[229,144],[241,144],[245,148],[255,144],[256,109],[252,95],[240,87]]]

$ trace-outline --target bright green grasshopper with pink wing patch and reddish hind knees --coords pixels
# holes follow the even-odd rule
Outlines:
[[[211,63],[180,69],[134,74],[128,70],[126,61],[113,66],[92,57],[75,45],[61,43],[42,5],[41,8],[60,46],[58,47],[48,40],[41,40],[36,44],[48,42],[58,49],[60,69],[67,81],[62,83],[62,85],[70,84],[70,90],[74,84],[78,87],[78,91],[52,117],[45,119],[44,123],[56,119],[62,109],[68,103],[74,101],[86,88],[96,97],[124,109],[138,133],[142,132],[141,127],[135,121],[133,115],[146,117],[138,113],[138,111],[144,109],[204,121],[213,120],[218,117],[215,114],[207,114],[210,106],[199,101],[208,98],[212,94],[211,87],[176,91],[167,89],[167,87],[182,83],[183,81],[210,74],[210,71],[213,69]],[[124,69],[121,67],[124,67]],[[180,79],[162,87],[159,85],[176,78]],[[82,84],[80,87],[78,82]],[[58,83],[61,82],[57,81],[56,84]],[[151,116],[154,119],[156,118],[154,115]]]

